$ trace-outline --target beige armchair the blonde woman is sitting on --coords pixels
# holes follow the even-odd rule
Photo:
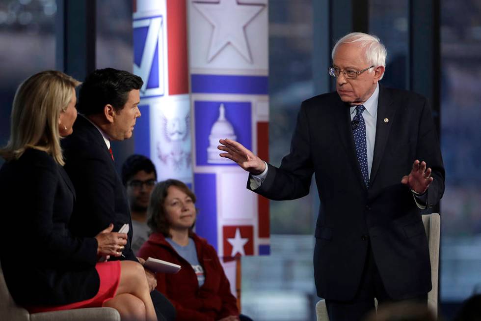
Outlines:
[[[72,290],[74,291],[74,290]],[[18,306],[8,291],[0,265],[0,316],[8,321],[120,321],[113,308],[87,308],[30,314]]]

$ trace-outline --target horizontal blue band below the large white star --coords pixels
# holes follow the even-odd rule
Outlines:
[[[193,93],[239,93],[267,95],[268,78],[265,76],[191,75]]]

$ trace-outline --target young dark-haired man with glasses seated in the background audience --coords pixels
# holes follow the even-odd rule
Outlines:
[[[122,183],[127,190],[132,216],[132,251],[137,253],[149,238],[147,207],[150,194],[157,181],[157,171],[150,159],[143,155],[131,155],[122,165]]]

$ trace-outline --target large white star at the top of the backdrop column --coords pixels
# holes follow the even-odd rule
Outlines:
[[[252,62],[245,27],[264,9],[264,4],[239,4],[237,0],[219,0],[219,3],[194,2],[194,6],[214,26],[208,61],[228,44]]]

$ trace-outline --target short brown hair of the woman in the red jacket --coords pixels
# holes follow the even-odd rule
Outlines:
[[[162,233],[165,237],[172,237],[169,232],[170,224],[164,209],[165,199],[170,186],[175,186],[186,193],[195,204],[195,194],[180,180],[167,179],[155,185],[150,195],[149,207],[147,208],[147,225],[150,227],[151,233]],[[192,233],[193,227],[194,225],[189,228],[189,234]]]

